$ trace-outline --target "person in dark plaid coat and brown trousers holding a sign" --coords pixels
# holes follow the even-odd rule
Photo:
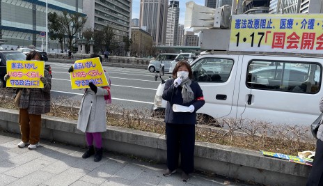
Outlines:
[[[26,56],[27,61],[40,61],[41,56],[36,51],[31,51]],[[5,75],[5,81],[10,79]],[[35,149],[40,146],[41,114],[50,111],[50,90],[52,79],[47,70],[44,70],[44,77],[40,77],[44,88],[18,88],[21,92],[19,100],[19,125],[22,133],[22,141],[18,144],[19,148],[28,146]]]

